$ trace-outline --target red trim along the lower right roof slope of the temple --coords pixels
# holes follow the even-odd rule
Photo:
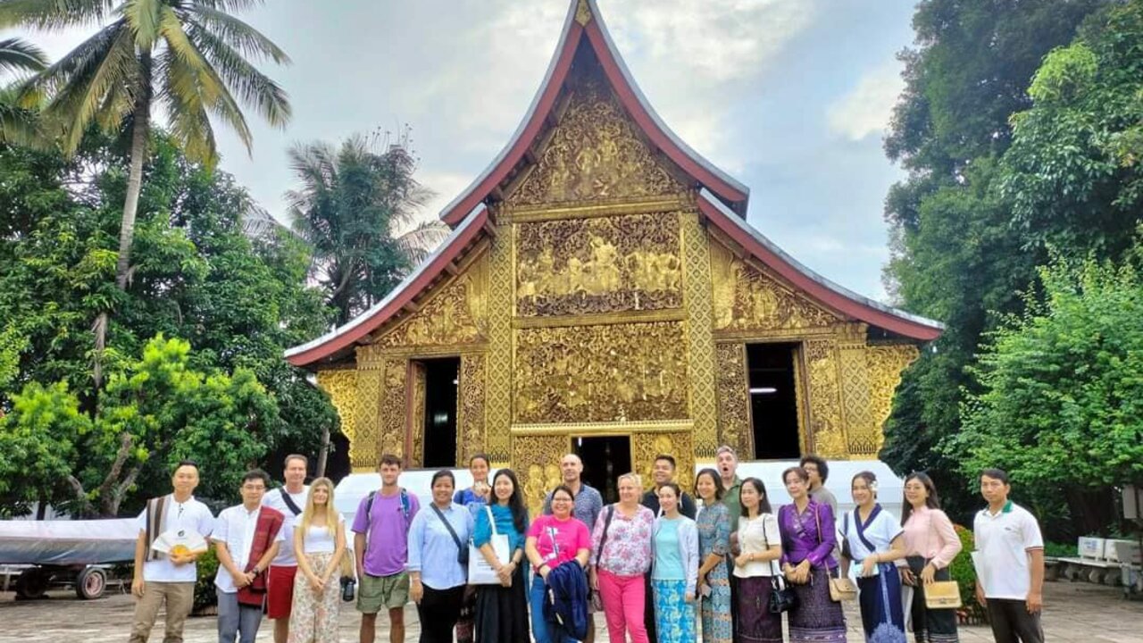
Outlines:
[[[735,243],[758,257],[759,261],[774,270],[780,277],[820,303],[872,326],[878,326],[913,340],[932,341],[941,336],[943,327],[936,322],[925,324],[920,320],[921,318],[903,311],[895,315],[889,312],[892,309],[887,307],[882,310],[876,305],[857,301],[852,296],[838,292],[840,287],[831,287],[831,284],[823,283],[825,281],[823,277],[808,275],[806,272],[807,269],[791,263],[786,256],[767,247],[744,229],[744,225],[746,225],[745,222],[741,224],[736,223],[727,212],[711,203],[708,198],[698,199],[698,209],[722,233],[734,239]]]

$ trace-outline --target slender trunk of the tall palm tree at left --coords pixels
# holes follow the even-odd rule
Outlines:
[[[139,54],[141,81],[135,96],[135,109],[131,112],[131,157],[130,170],[127,175],[127,198],[123,201],[123,217],[119,224],[119,260],[115,262],[115,286],[127,289],[130,280],[131,240],[135,238],[135,215],[138,212],[139,191],[143,186],[143,162],[146,160],[146,145],[151,137],[151,53]],[[103,350],[107,346],[107,324],[110,312],[103,311],[95,320],[95,359],[91,375],[95,388],[103,383]]]

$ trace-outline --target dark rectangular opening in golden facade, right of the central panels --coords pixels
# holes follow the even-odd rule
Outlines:
[[[750,423],[756,460],[801,457],[798,436],[797,343],[746,346]]]

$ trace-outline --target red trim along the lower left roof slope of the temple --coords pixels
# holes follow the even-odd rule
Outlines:
[[[427,263],[422,264],[416,272],[410,275],[408,280],[398,286],[374,309],[362,312],[359,317],[322,338],[287,351],[286,360],[294,366],[306,366],[352,346],[376,331],[427,288],[445,271],[446,265],[459,257],[464,248],[481,235],[487,222],[488,209],[481,207],[480,212],[474,213],[474,219],[467,222],[462,230],[458,230],[458,233],[447,246],[439,249]],[[293,352],[295,350],[297,352]]]

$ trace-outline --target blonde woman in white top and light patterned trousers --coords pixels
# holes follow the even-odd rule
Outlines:
[[[334,483],[318,478],[294,530],[298,574],[294,579],[289,643],[337,643],[344,518],[334,509]]]

